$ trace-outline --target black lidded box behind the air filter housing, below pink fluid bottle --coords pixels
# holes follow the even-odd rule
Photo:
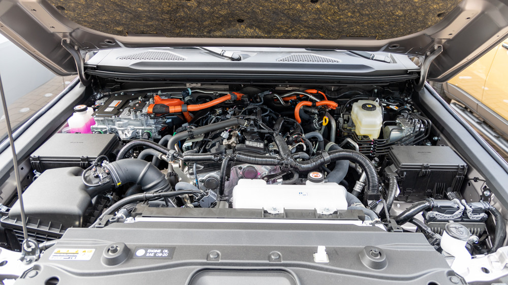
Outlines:
[[[39,172],[71,166],[86,168],[101,155],[114,159],[117,147],[115,134],[56,133],[30,155],[30,163]]]

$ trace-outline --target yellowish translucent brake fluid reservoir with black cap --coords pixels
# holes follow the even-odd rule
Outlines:
[[[351,119],[355,123],[355,132],[358,135],[368,135],[370,139],[379,137],[383,126],[383,109],[378,102],[372,100],[359,100],[353,103]]]

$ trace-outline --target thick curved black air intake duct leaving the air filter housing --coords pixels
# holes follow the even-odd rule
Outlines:
[[[116,187],[134,182],[141,185],[145,192],[170,189],[166,176],[148,161],[128,158],[111,162],[104,167],[109,170]]]

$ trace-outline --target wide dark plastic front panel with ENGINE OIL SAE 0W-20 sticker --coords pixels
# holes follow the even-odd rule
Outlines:
[[[69,229],[34,264],[37,274],[16,284],[454,284],[421,233],[341,221],[151,219]],[[319,245],[328,263],[314,261]]]

